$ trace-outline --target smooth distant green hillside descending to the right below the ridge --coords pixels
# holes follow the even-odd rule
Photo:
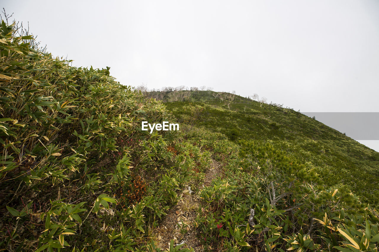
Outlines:
[[[310,168],[327,185],[348,185],[365,202],[379,204],[379,153],[317,120],[291,109],[260,104],[237,96],[228,110],[212,91],[192,92],[192,106],[203,107],[197,126],[226,134],[230,140],[270,142]],[[189,102],[165,103],[177,118],[194,117]]]

